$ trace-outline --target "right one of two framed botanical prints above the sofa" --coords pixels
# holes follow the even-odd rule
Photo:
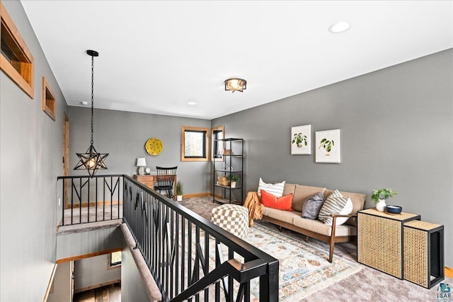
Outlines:
[[[316,162],[340,162],[340,129],[316,131]]]

